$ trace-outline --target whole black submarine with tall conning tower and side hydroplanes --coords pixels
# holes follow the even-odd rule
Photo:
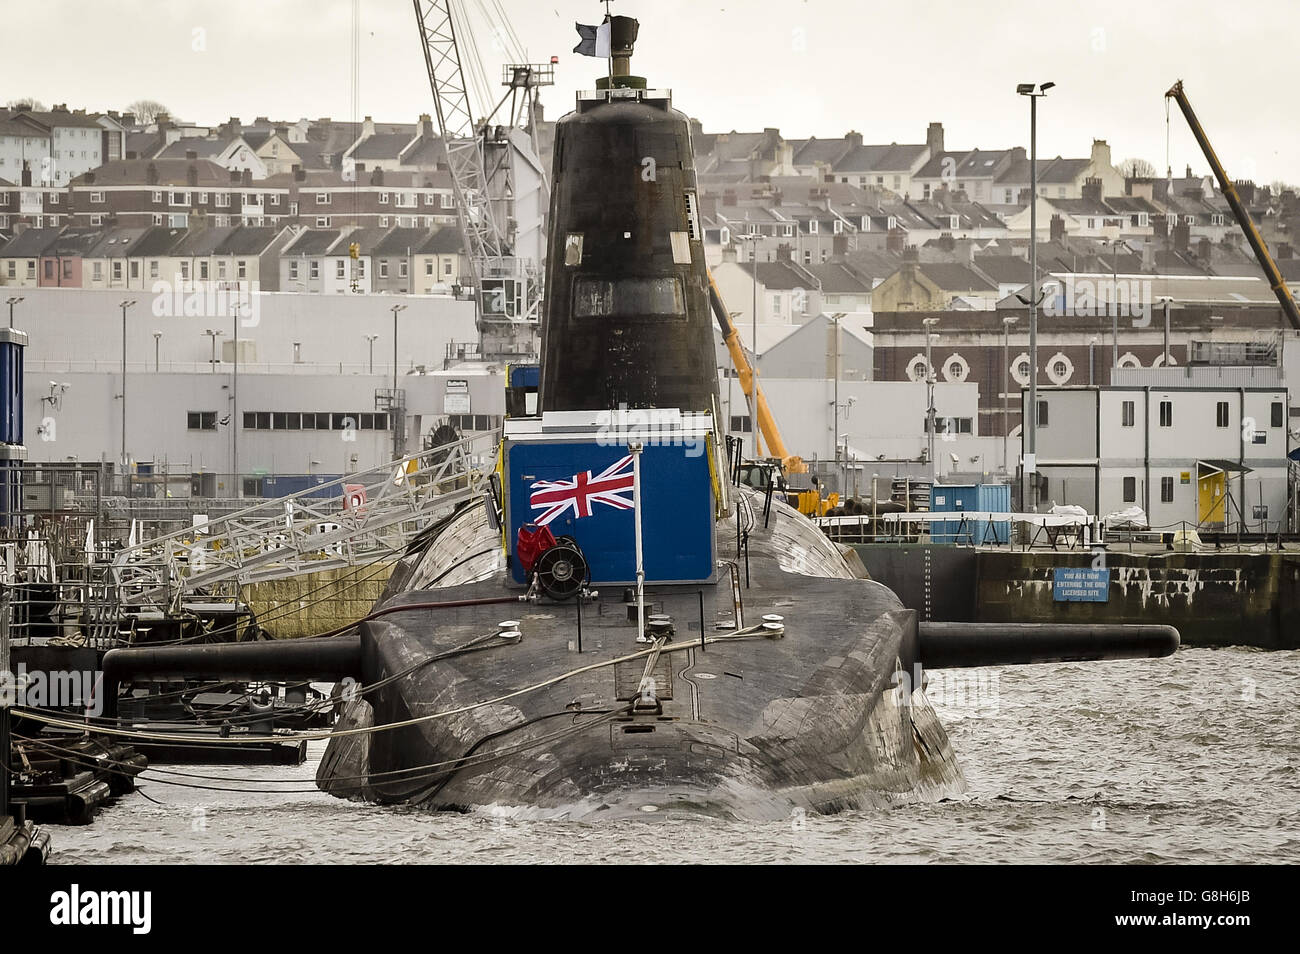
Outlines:
[[[638,22],[610,30],[608,75],[555,126],[540,369],[511,369],[489,490],[412,539],[354,633],[113,650],[108,702],[142,673],[341,680],[317,786],[430,811],[775,820],[957,795],[926,668],[1161,656],[1178,633],[918,623],[741,480],[690,125],[630,73]]]

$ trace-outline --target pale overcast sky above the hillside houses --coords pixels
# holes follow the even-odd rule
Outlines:
[[[529,57],[559,56],[547,116],[572,108],[602,62],[572,53],[573,21],[599,22],[594,0],[499,3]],[[707,131],[776,126],[788,138],[1028,144],[1018,82],[1054,81],[1040,103],[1039,155],[1087,156],[1093,138],[1115,162],[1164,172],[1162,94],[1184,79],[1234,178],[1300,182],[1291,38],[1295,0],[620,0],[641,38],[633,71],[673,90]],[[8,10],[0,101],[35,96],[121,109],[148,97],[179,117],[220,122],[350,118],[351,0],[40,0]],[[476,47],[495,82],[507,56],[481,22]],[[499,44],[498,44],[499,45]],[[361,0],[360,114],[413,121],[432,112],[412,6]],[[476,104],[481,110],[482,105]],[[1171,162],[1208,172],[1176,107]]]

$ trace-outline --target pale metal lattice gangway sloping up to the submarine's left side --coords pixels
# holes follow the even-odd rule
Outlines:
[[[161,617],[231,586],[389,559],[484,493],[495,447],[494,433],[465,438],[125,547],[98,608]]]

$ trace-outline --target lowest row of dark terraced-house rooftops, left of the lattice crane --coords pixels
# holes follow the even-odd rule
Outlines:
[[[456,229],[294,229],[229,226],[169,229],[165,226],[112,229],[25,229],[0,239],[0,259],[151,259],[260,256],[313,256],[348,253],[356,243],[361,255],[454,255],[462,248]]]

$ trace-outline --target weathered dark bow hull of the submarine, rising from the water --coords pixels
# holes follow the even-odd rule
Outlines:
[[[464,539],[478,521],[491,533],[480,508],[447,532]],[[737,567],[744,623],[779,613],[784,636],[731,636],[729,574],[649,587],[647,603],[676,632],[651,667],[647,708],[634,706],[650,650],[636,642],[621,591],[582,607],[581,652],[573,603],[412,608],[364,624],[363,684],[408,675],[351,702],[342,724],[412,724],[333,740],[320,786],[381,803],[566,819],[688,811],[762,820],[961,793],[933,710],[897,676],[916,660],[915,613],[854,577],[783,504],[774,503],[770,529],[751,530],[749,548],[748,586]],[[445,573],[421,567],[445,554],[430,539],[396,578]],[[451,587],[456,602],[511,593],[503,568],[472,572],[485,578]],[[407,590],[385,607],[450,597]],[[507,617],[519,620],[517,642],[491,636]],[[456,654],[485,636],[485,647]]]

